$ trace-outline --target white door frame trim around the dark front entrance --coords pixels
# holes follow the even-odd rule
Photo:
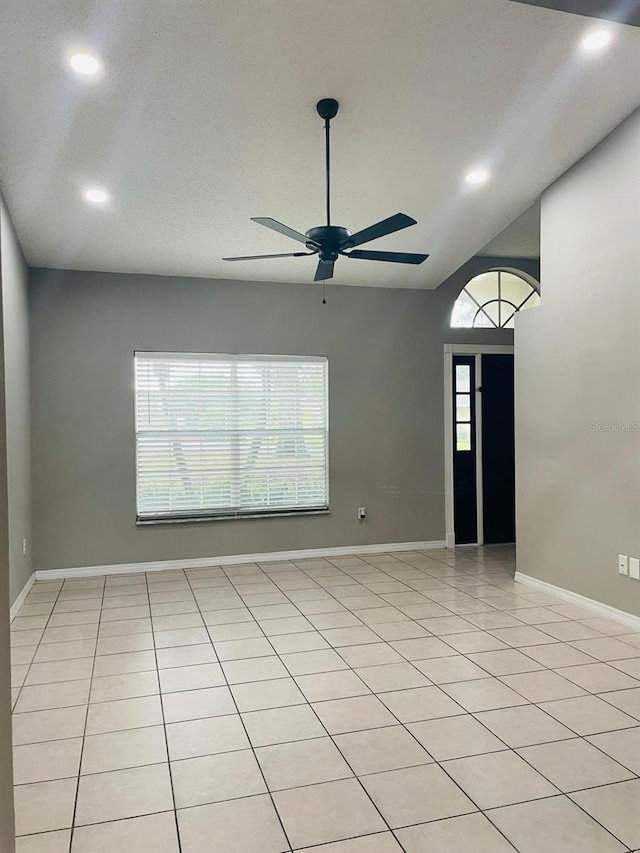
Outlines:
[[[444,345],[444,512],[447,548],[456,544],[453,504],[453,356],[475,356],[475,412],[476,412],[476,523],[477,545],[484,543],[484,515],[482,505],[482,358],[485,353],[513,355],[512,346],[492,344],[445,344]]]

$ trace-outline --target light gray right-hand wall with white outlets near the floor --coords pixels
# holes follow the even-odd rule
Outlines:
[[[518,569],[640,615],[617,571],[640,557],[640,111],[543,195],[542,282],[516,318]]]

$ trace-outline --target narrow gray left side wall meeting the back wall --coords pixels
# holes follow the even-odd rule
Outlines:
[[[13,602],[32,571],[29,301],[27,265],[1,196],[0,245],[7,400],[10,595]],[[22,553],[23,539],[27,540],[26,555]]]

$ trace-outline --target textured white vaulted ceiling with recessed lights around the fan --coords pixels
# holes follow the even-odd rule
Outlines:
[[[334,281],[436,287],[638,106],[640,31],[586,56],[587,27],[509,0],[3,0],[1,186],[32,265],[308,281],[313,259],[221,257],[298,248],[251,216],[322,224],[332,96],[334,222],[403,211],[370,247],[431,253]]]

